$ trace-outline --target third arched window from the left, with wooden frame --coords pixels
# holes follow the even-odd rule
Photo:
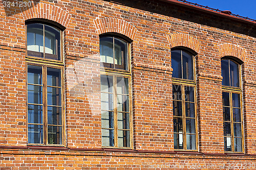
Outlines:
[[[183,49],[171,53],[173,68],[174,149],[197,150],[195,57]]]

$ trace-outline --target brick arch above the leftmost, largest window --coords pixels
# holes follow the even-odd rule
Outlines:
[[[58,22],[60,25],[67,28],[71,14],[67,11],[56,7],[54,5],[45,4],[45,3],[32,3],[33,7],[30,8],[20,7],[23,11],[23,16],[25,20],[32,19],[32,18],[44,18],[53,20]]]

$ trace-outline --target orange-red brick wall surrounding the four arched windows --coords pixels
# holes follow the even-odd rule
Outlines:
[[[0,6],[1,170],[256,169],[255,22],[174,1]],[[64,147],[27,145],[25,21],[29,19],[47,19],[65,28]],[[99,35],[104,33],[119,33],[131,41],[132,149],[101,147]],[[174,150],[171,48],[180,46],[197,54],[198,152]],[[243,62],[244,154],[224,152],[224,56]]]

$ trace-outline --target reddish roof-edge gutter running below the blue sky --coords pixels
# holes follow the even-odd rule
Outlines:
[[[206,12],[206,13],[209,13],[209,14],[218,15],[218,16],[221,16],[221,17],[224,17],[224,18],[228,18],[228,19],[233,19],[233,20],[237,20],[237,21],[241,21],[241,22],[246,22],[246,23],[249,23],[251,25],[256,25],[256,22],[252,21],[252,20],[248,20],[248,19],[244,19],[244,18],[239,18],[239,17],[233,16],[233,15],[229,15],[229,14],[226,14],[226,13],[213,11],[213,10],[210,10],[210,9],[206,9],[206,8],[203,8],[203,7],[198,7],[198,6],[191,5],[191,4],[186,4],[186,3],[179,2],[179,1],[176,1],[176,0],[160,0],[160,1],[167,2],[167,3],[170,3],[170,4],[179,5],[179,6],[182,6],[182,7],[189,8],[189,9],[195,9],[195,10]]]

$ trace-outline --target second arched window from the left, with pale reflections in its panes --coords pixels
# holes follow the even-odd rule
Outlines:
[[[130,43],[100,36],[102,147],[131,148]]]

